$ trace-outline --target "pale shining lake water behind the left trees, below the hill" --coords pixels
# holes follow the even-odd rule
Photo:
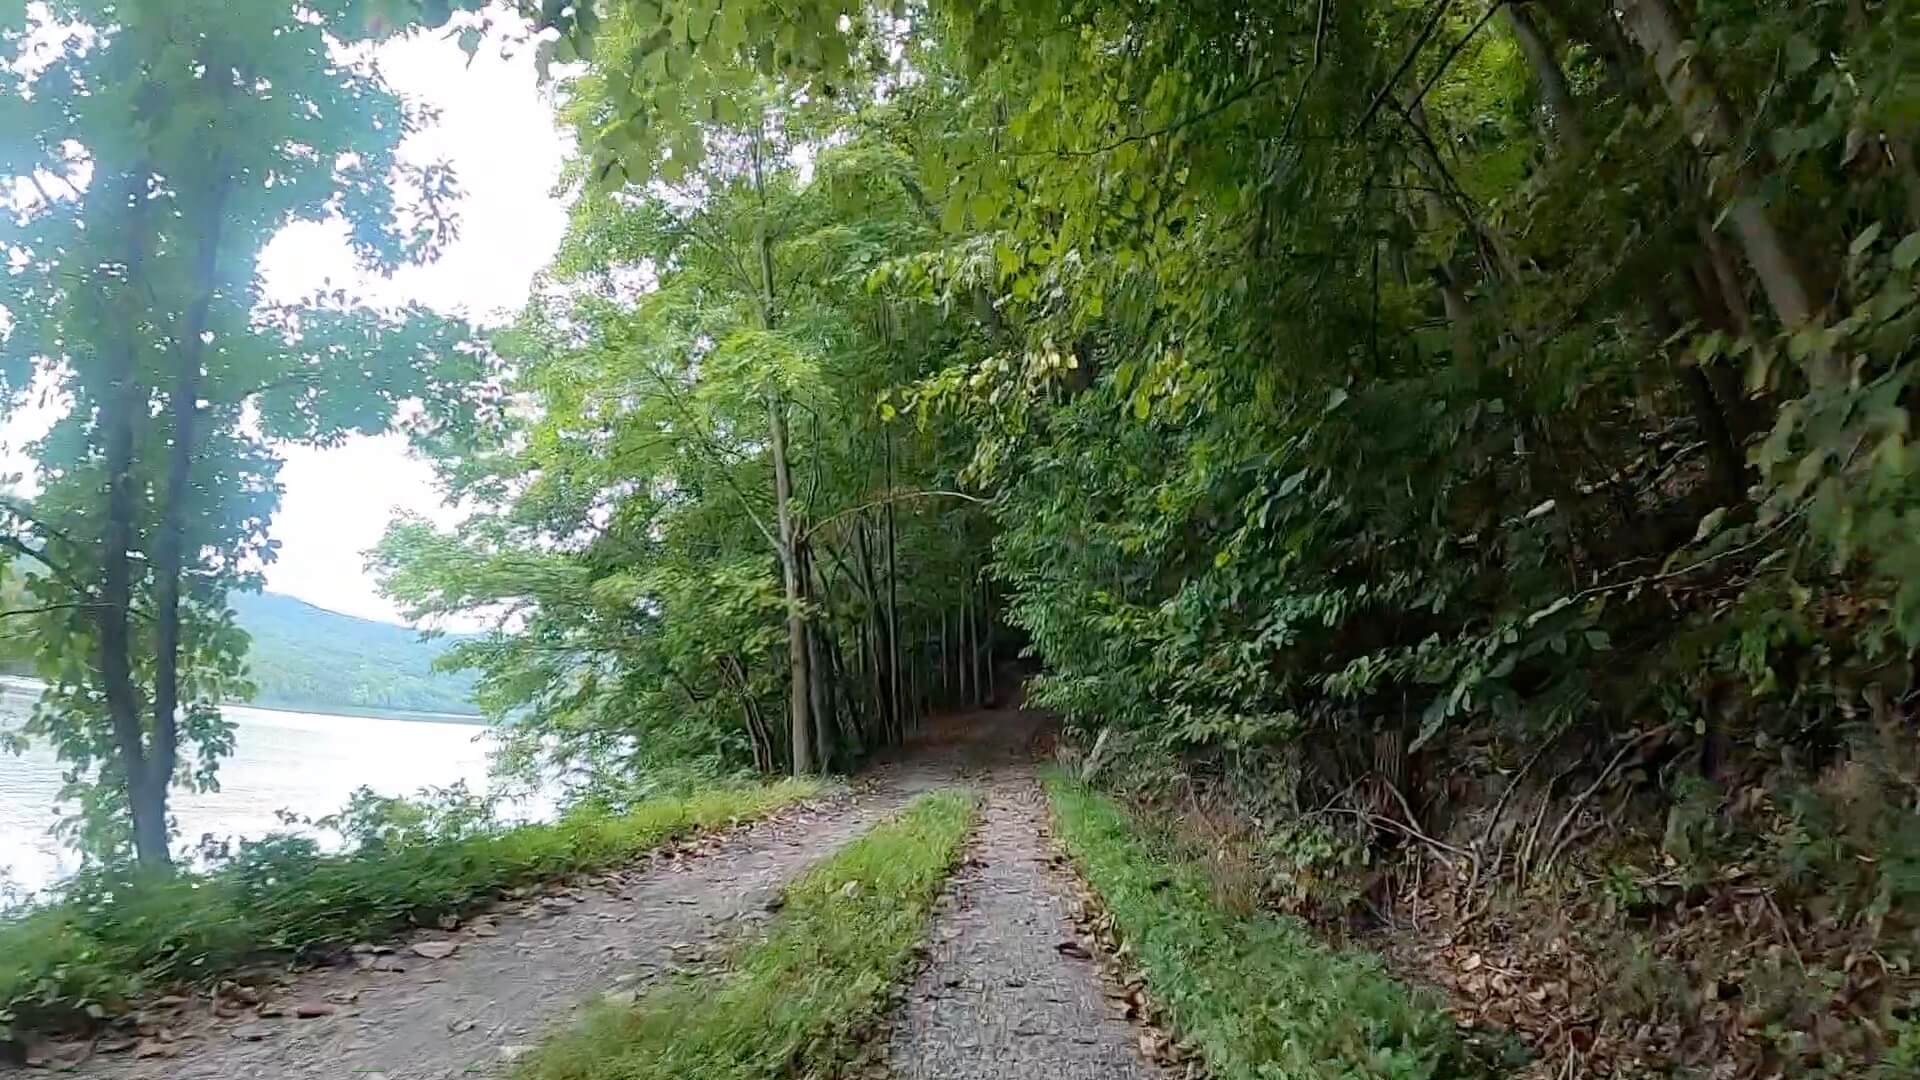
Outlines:
[[[17,728],[40,686],[0,676],[0,728]],[[284,830],[275,811],[321,817],[346,805],[361,786],[382,796],[411,796],[467,780],[488,784],[492,736],[478,724],[382,717],[328,717],[227,705],[234,753],[221,761],[219,792],[171,794],[180,844],[202,834],[257,838]],[[79,859],[48,834],[61,765],[46,744],[15,757],[0,749],[0,882],[36,890],[69,872]]]

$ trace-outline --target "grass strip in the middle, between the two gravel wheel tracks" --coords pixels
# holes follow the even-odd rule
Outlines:
[[[914,799],[787,888],[766,940],[718,978],[597,1005],[516,1080],[753,1080],[829,1074],[877,1019],[960,859],[973,799]]]

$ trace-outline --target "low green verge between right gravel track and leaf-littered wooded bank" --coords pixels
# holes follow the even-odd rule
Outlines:
[[[1156,855],[1127,811],[1064,774],[1046,780],[1060,838],[1217,1080],[1478,1076],[1453,1020],[1365,953],[1292,919],[1229,915],[1198,867]]]

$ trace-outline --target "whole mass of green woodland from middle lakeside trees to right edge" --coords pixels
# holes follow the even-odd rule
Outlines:
[[[1578,855],[1576,897],[1611,874],[1686,907],[1707,888],[1672,869],[1688,813],[1782,867],[1797,822],[1853,811],[1905,851],[1916,21],[1908,0],[601,4],[551,46],[589,56],[553,279],[589,307],[543,302],[547,352],[503,346],[541,404],[492,459],[503,498],[457,546],[399,536],[394,580],[426,607],[520,600],[449,582],[486,565],[474,536],[538,525],[478,552],[495,580],[564,538],[555,569],[605,584],[593,619],[526,598],[538,634],[470,655],[538,703],[534,730],[772,767],[755,711],[785,694],[803,717],[828,646],[947,655],[929,615],[991,544],[985,636],[1025,638],[1033,698],[1110,728],[1142,790],[1284,822],[1277,876],[1348,878],[1334,907],[1407,851],[1513,892]],[[885,236],[849,258],[862,231]],[[795,323],[743,302],[772,282]],[[804,402],[789,446],[768,386]],[[874,432],[908,427],[883,444],[904,475],[991,521],[876,484]],[[876,494],[920,571],[887,592],[920,617],[876,621],[854,559],[808,575],[766,525],[810,538]],[[584,640],[607,601],[618,644]],[[881,665],[852,671],[829,698]],[[829,744],[897,728],[828,713],[856,717]],[[1832,980],[1695,936],[1668,982],[1759,970],[1789,1005],[1651,1053],[1878,1061],[1912,978],[1843,957],[1910,970],[1907,865],[1876,863],[1859,892],[1882,899],[1839,922],[1795,913],[1841,965],[1845,1022],[1768,1034]],[[1738,899],[1705,880],[1701,911]]]

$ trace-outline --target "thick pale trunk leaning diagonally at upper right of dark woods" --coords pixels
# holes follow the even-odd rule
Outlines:
[[[1667,90],[1667,98],[1686,117],[1690,135],[1709,156],[1734,152],[1734,121],[1705,61],[1695,56],[1686,42],[1680,13],[1672,0],[1624,0],[1626,27],[1653,61],[1653,71]],[[1728,163],[1732,190],[1728,221],[1734,234],[1766,292],[1766,302],[1774,315],[1788,329],[1795,329],[1812,319],[1812,290],[1807,275],[1788,250],[1778,225],[1757,198],[1743,165]],[[1809,365],[1807,377],[1814,386],[1830,386],[1841,375],[1837,361],[1816,361]]]

